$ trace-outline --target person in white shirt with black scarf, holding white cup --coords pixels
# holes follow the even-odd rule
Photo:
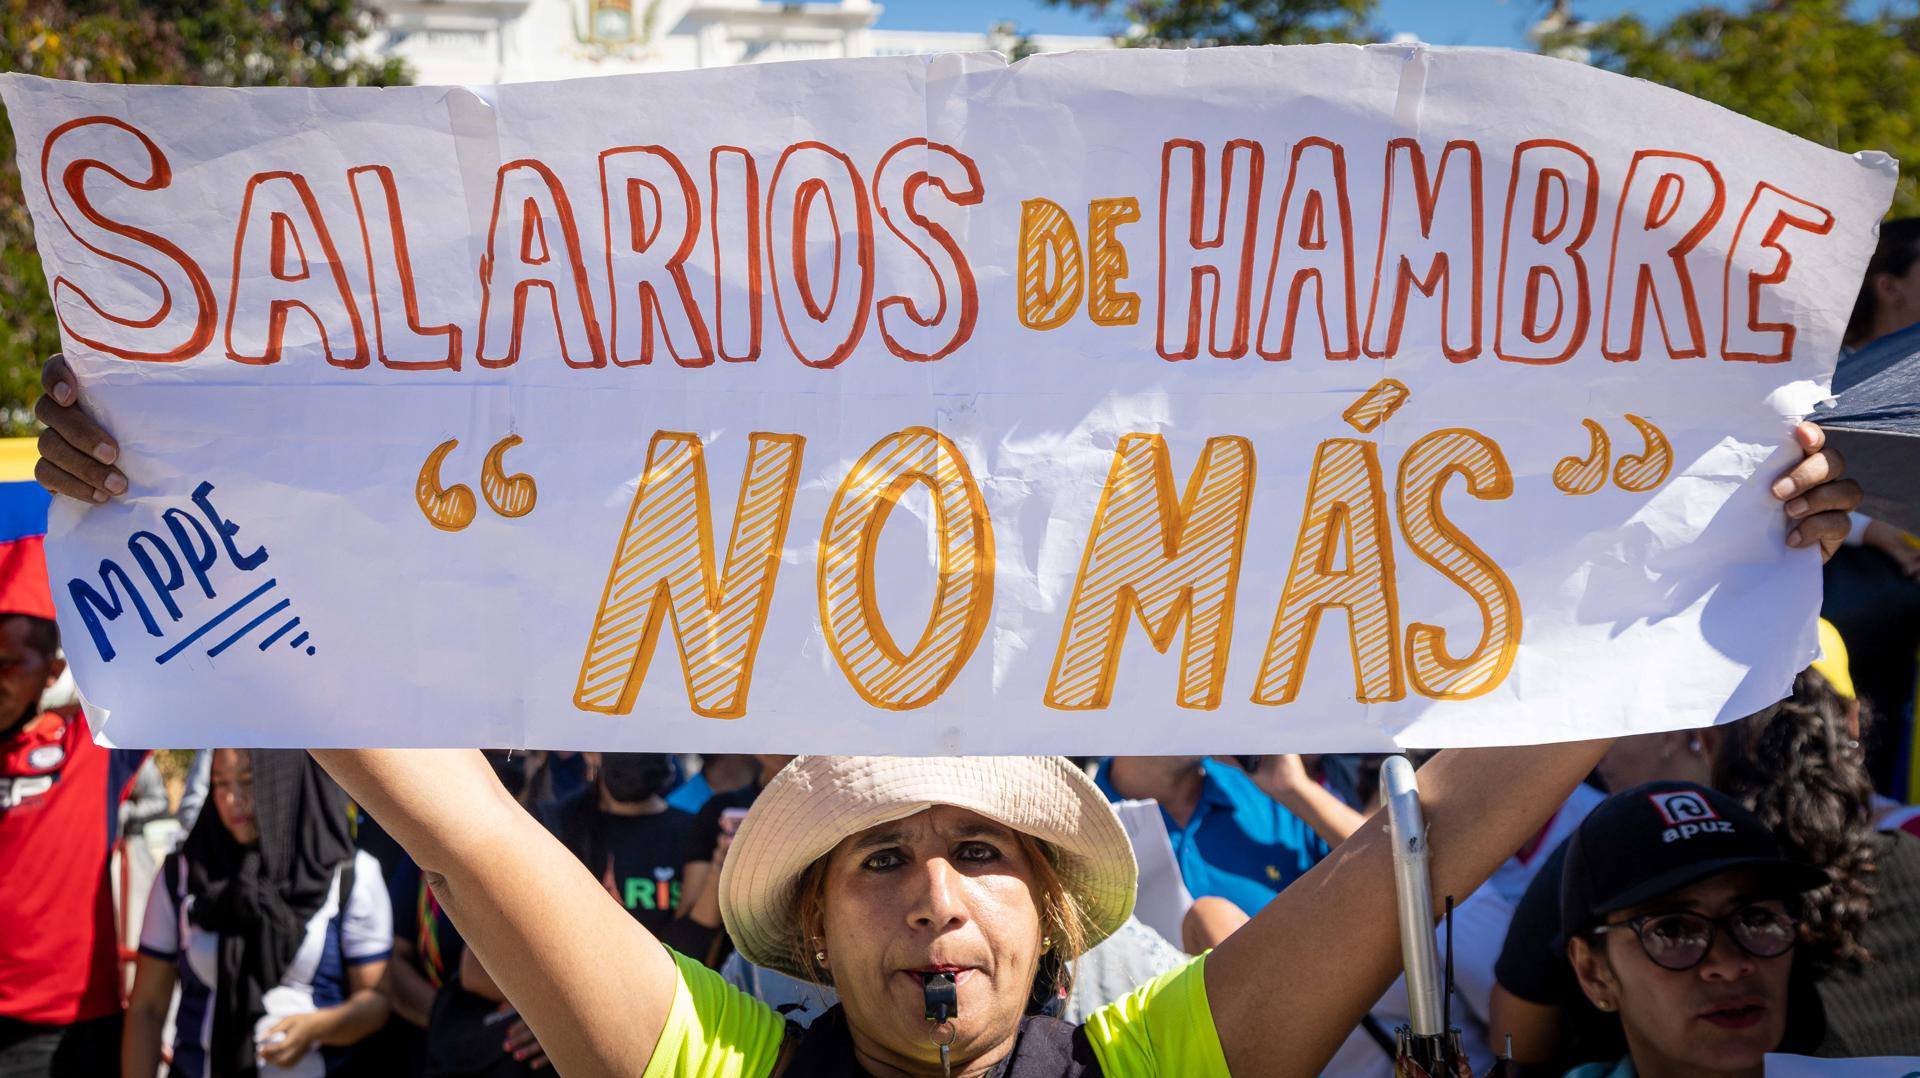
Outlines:
[[[330,1074],[388,1017],[380,863],[307,753],[217,749],[209,801],[148,899],[121,1076],[157,1070],[177,984],[169,1074]]]

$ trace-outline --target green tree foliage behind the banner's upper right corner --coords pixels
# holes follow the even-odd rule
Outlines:
[[[1684,90],[1836,150],[1920,161],[1920,10],[1849,0],[1701,6],[1649,27],[1636,15],[1549,35],[1599,67]],[[1920,213],[1903,169],[1893,213]]]

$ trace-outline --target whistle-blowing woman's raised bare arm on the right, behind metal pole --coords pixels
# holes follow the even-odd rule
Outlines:
[[[1607,744],[1448,749],[1423,767],[1434,903],[1465,899],[1524,845]],[[1319,1074],[1400,972],[1398,917],[1392,838],[1375,813],[1208,957],[1233,1074]]]

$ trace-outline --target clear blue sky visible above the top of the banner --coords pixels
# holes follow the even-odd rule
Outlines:
[[[995,21],[1020,23],[1027,33],[1108,33],[1110,23],[1054,8],[1044,0],[877,0],[879,25],[902,31],[985,31]],[[1661,21],[1690,0],[1584,0],[1574,10],[1588,19],[1638,12]],[[1411,33],[1432,44],[1496,44],[1526,48],[1523,31],[1546,0],[1380,0],[1375,21],[1388,33]]]

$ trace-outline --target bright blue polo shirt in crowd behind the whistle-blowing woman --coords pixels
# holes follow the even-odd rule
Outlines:
[[[1300,817],[1225,763],[1200,765],[1200,803],[1187,826],[1165,809],[1160,819],[1173,840],[1173,859],[1194,897],[1219,895],[1248,915],[1260,913],[1286,884],[1327,857],[1327,844]],[[1094,782],[1108,801],[1123,801],[1100,761]]]

